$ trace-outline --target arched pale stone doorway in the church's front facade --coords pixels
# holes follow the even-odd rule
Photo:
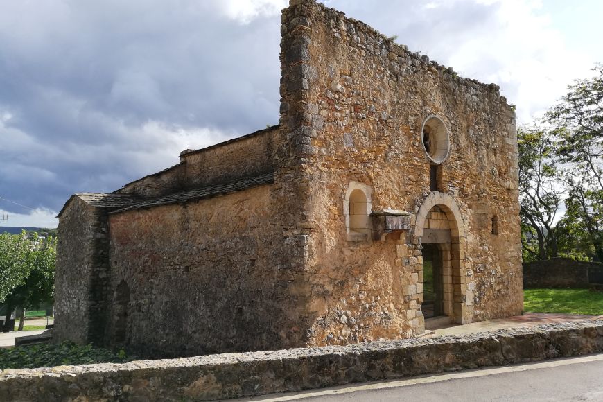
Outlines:
[[[430,193],[419,208],[413,234],[414,241],[423,245],[423,315],[468,324],[473,292],[465,267],[464,222],[454,198]]]

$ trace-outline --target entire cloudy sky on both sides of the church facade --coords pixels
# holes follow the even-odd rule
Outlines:
[[[1,223],[55,227],[72,193],[114,191],[185,148],[278,123],[286,3],[0,0]],[[603,62],[599,0],[324,3],[498,83],[519,123]]]

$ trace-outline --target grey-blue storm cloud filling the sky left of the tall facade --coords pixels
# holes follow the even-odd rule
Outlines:
[[[0,196],[58,211],[177,163],[178,147],[278,121],[278,17],[241,24],[206,1],[1,6]]]

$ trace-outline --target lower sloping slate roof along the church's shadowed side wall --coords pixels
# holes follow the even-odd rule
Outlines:
[[[263,173],[255,177],[247,177],[246,179],[237,180],[236,182],[214,184],[212,186],[203,186],[194,190],[182,191],[180,193],[172,193],[164,195],[159,198],[153,198],[152,200],[144,200],[135,204],[130,204],[126,207],[112,211],[111,213],[119,213],[123,211],[131,211],[132,209],[142,209],[157,207],[159,205],[175,204],[179,202],[187,202],[190,200],[199,200],[202,198],[210,198],[216,195],[222,195],[227,193],[233,193],[234,191],[240,191],[249,189],[250,187],[259,186],[261,184],[274,183],[274,172]]]

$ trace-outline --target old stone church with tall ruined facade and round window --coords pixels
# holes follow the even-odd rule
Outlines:
[[[498,86],[313,0],[281,23],[279,125],[64,205],[56,341],[193,356],[522,313]]]

